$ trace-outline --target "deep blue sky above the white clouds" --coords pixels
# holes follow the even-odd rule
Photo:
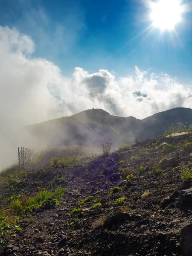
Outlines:
[[[141,70],[192,81],[192,15],[174,33],[150,25],[139,0],[0,0],[0,25],[15,27],[35,41],[33,56],[46,58],[71,76],[75,67],[107,69],[116,76]]]

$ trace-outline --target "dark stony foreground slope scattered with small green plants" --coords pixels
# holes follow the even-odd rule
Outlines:
[[[49,151],[22,169],[14,192],[3,180],[0,203],[42,187],[67,192],[58,207],[21,218],[22,230],[1,245],[0,255],[192,255],[192,182],[181,177],[185,168],[190,176],[191,141],[191,134],[158,137],[72,167],[49,166],[50,157],[62,155]],[[66,179],[52,182],[55,175]]]

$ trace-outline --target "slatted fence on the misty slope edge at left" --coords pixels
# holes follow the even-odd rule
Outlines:
[[[19,168],[35,160],[35,158],[38,157],[40,154],[40,149],[30,149],[24,147],[18,148]]]

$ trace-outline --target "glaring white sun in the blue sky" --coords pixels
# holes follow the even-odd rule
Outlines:
[[[182,20],[184,7],[181,0],[158,0],[151,2],[152,26],[164,30],[173,30],[175,25]]]

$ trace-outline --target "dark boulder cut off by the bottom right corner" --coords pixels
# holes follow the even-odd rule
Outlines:
[[[192,255],[192,224],[181,230],[180,247],[184,255]]]

